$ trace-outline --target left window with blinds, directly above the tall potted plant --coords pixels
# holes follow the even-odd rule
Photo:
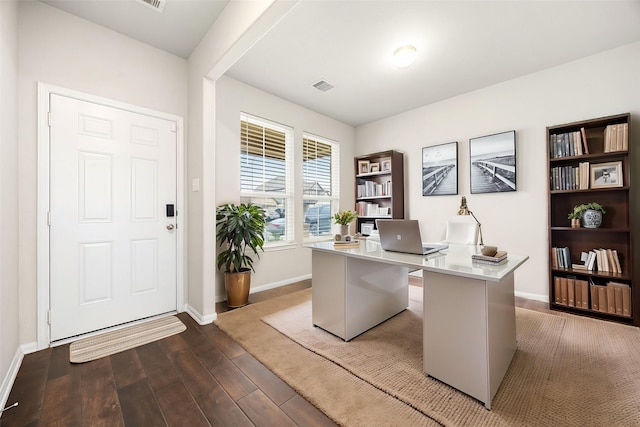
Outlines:
[[[293,130],[240,116],[240,196],[265,210],[265,246],[293,241]]]

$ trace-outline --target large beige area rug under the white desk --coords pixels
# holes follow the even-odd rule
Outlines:
[[[640,425],[638,328],[517,308],[518,351],[488,411],[422,373],[422,289],[409,289],[408,310],[348,343],[311,324],[310,290],[216,324],[346,426]]]

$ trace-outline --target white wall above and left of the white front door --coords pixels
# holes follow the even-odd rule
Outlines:
[[[187,117],[187,61],[37,1],[19,6],[20,342],[36,340],[37,82]]]

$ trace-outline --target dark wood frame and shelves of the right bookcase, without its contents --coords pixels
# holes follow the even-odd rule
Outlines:
[[[583,120],[562,125],[547,127],[547,186],[549,200],[549,308],[595,317],[603,320],[640,326],[640,281],[638,271],[634,265],[639,256],[634,251],[634,241],[638,238],[638,224],[634,223],[638,216],[636,188],[637,174],[632,165],[637,159],[637,144],[633,140],[630,126],[631,115],[618,114],[592,120]],[[609,125],[623,125],[626,123],[628,144],[626,149],[606,151],[605,129]],[[586,145],[589,154],[568,152],[558,155],[556,141],[559,135],[580,133],[582,141],[586,135]],[[577,151],[577,150],[575,150]],[[557,156],[557,157],[556,157]],[[589,188],[555,189],[553,169],[567,166],[577,168],[580,163],[589,163]],[[591,188],[591,174],[593,165],[620,162],[622,165],[622,185],[616,187]],[[597,202],[604,206],[606,213],[602,217],[599,228],[572,228],[568,214],[575,205]],[[607,272],[598,270],[584,270],[554,266],[553,248],[569,248],[571,264],[581,263],[581,254],[593,249],[615,250],[620,260],[621,272]],[[558,303],[556,297],[555,278],[586,280],[589,283],[589,306],[576,307]],[[631,291],[631,315],[624,316],[617,313],[603,312],[593,309],[591,285],[607,285],[608,283],[628,285]]]

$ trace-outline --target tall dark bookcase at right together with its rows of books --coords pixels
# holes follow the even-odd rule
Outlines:
[[[630,118],[627,113],[547,127],[549,307],[640,326]],[[567,216],[573,207],[591,202],[606,209],[600,227],[572,227]],[[585,268],[582,256],[592,251],[611,263],[598,258],[595,268]]]

